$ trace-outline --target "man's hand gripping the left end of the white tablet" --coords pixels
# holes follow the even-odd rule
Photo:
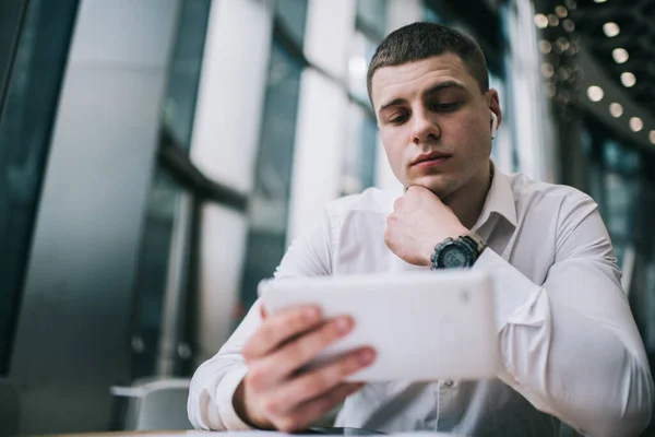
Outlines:
[[[248,375],[234,397],[237,414],[258,428],[291,432],[329,413],[361,383],[345,378],[374,361],[359,347],[320,367],[307,369],[325,347],[353,330],[346,315],[324,318],[318,306],[295,306],[266,316],[243,346]]]

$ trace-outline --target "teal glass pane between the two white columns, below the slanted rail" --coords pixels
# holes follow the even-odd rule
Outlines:
[[[266,83],[250,229],[242,277],[242,306],[257,299],[257,285],[270,277],[286,250],[286,225],[296,115],[302,63],[274,37]]]

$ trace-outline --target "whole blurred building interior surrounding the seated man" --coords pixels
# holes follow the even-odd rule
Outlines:
[[[1,0],[0,435],[188,426],[323,204],[402,193],[366,71],[415,21],[483,47],[500,169],[598,202],[653,359],[655,0]]]

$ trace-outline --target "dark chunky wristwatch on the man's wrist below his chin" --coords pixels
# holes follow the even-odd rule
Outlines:
[[[462,235],[456,239],[446,238],[434,246],[434,251],[430,256],[431,270],[473,267],[486,247],[483,238],[474,233]]]

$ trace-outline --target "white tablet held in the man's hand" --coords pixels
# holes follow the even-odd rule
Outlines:
[[[376,362],[352,381],[485,379],[500,369],[493,287],[485,272],[285,279],[263,281],[259,292],[269,314],[313,304],[324,318],[352,316],[353,332],[318,359],[372,346]]]

